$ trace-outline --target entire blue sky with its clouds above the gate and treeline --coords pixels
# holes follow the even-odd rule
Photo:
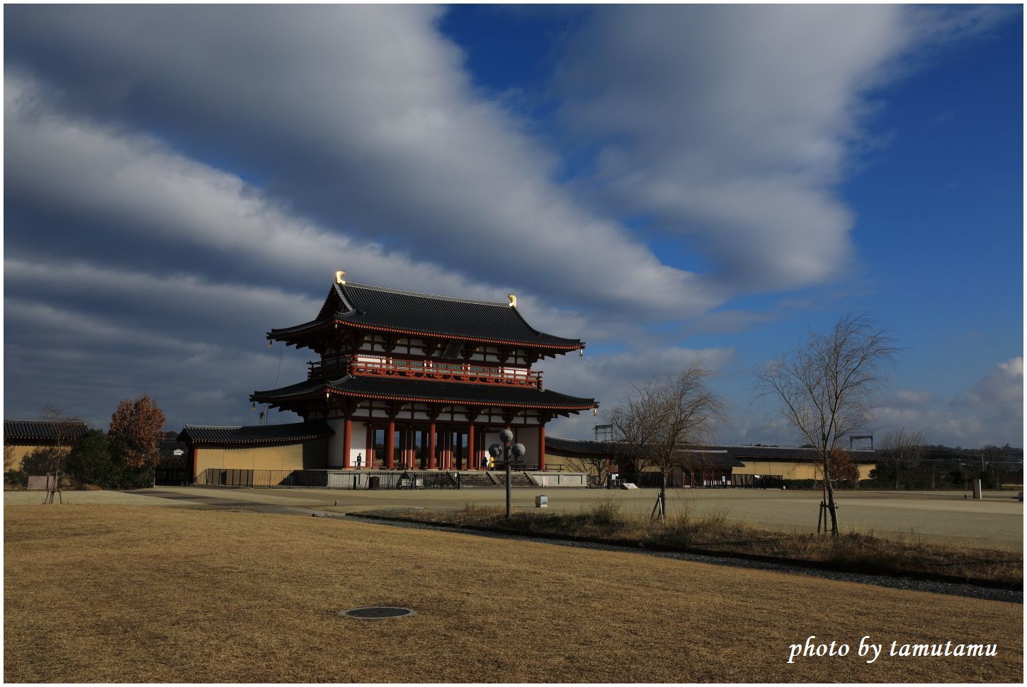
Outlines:
[[[867,431],[1022,445],[1019,6],[6,6],[4,415],[255,421],[355,281],[504,300],[615,405],[867,311]],[[280,368],[279,368],[280,354]],[[272,414],[274,422],[292,421]],[[591,416],[558,434],[586,436]]]

